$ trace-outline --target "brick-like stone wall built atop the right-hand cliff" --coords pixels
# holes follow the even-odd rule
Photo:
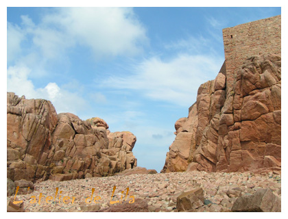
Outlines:
[[[223,29],[228,92],[232,89],[237,66],[249,57],[281,55],[281,16],[265,18]]]

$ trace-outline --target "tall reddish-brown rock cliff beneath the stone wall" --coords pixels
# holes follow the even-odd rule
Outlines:
[[[281,57],[250,57],[226,86],[225,62],[176,122],[162,172],[247,171],[281,166]]]

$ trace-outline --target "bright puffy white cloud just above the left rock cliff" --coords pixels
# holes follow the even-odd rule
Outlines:
[[[61,89],[56,83],[48,83],[45,88],[35,88],[29,75],[32,70],[27,66],[10,66],[7,70],[7,90],[26,99],[47,99],[52,102],[56,112],[76,114],[86,109],[88,103],[77,93]]]

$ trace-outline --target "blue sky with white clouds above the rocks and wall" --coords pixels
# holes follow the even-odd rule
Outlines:
[[[222,29],[280,8],[8,8],[7,90],[131,131],[138,166],[165,164],[178,118],[224,62]]]

